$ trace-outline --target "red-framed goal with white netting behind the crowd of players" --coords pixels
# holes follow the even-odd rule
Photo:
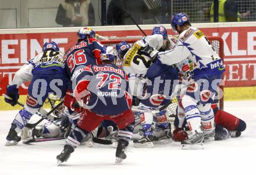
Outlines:
[[[222,58],[222,61],[223,61],[224,52],[223,52],[222,38],[221,37],[207,37],[207,38],[211,42],[215,52],[219,54],[219,56]],[[114,45],[114,44],[120,43],[121,41],[126,41],[130,44],[133,44],[137,40],[140,40],[140,38],[131,38],[131,37],[109,38],[109,40],[103,40],[101,41],[101,43],[105,45]],[[220,86],[220,88],[223,91],[222,85]],[[223,109],[223,97],[219,100],[218,106],[219,106],[219,109]],[[177,98],[175,97],[172,99],[172,103],[170,103],[170,105],[166,108],[167,112],[169,113],[169,116],[176,115],[176,108],[177,108]]]

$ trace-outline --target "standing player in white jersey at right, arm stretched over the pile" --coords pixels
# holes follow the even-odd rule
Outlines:
[[[186,95],[182,97],[182,105],[191,131],[189,138],[182,142],[182,148],[202,148],[204,137],[214,138],[215,124],[211,102],[218,87],[216,82],[220,83],[225,69],[207,37],[198,28],[191,27],[189,16],[185,13],[175,13],[171,25],[173,30],[179,33],[174,49],[155,54],[155,50],[148,47],[141,52],[145,51],[148,55],[151,53],[151,57],[157,56],[158,60],[166,65],[173,65],[187,58],[197,65],[193,71],[195,86],[193,89],[187,88]]]

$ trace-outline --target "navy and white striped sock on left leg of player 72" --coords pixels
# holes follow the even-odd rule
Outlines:
[[[88,131],[79,128],[78,126],[74,127],[70,131],[69,136],[67,137],[66,144],[76,148],[80,145],[80,142],[86,137],[87,134],[90,134]]]

